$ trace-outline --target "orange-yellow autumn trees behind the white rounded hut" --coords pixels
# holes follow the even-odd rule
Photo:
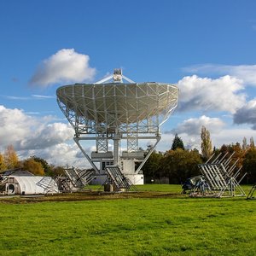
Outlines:
[[[9,145],[3,154],[0,153],[0,173],[6,170],[20,169],[32,172],[38,176],[55,177],[64,173],[62,166],[49,165],[49,163],[37,156],[31,156],[26,160],[19,160],[15,148]]]

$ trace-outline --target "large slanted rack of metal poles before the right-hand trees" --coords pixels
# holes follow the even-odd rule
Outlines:
[[[246,196],[239,184],[247,173],[237,181],[241,167],[237,167],[239,159],[234,160],[234,154],[235,152],[229,157],[228,153],[220,153],[217,157],[214,157],[215,154],[213,154],[205,164],[199,165],[201,173],[209,185],[211,194],[215,197]],[[193,196],[193,192],[191,195]]]

